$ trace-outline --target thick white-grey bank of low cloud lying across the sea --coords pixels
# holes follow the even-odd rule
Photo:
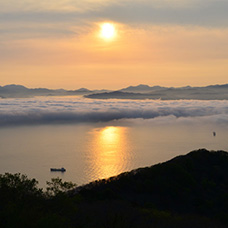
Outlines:
[[[143,119],[228,123],[228,101],[93,100],[78,97],[0,99],[0,126]]]

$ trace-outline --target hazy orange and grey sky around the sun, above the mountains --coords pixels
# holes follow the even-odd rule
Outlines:
[[[227,83],[227,12],[227,0],[0,0],[0,85]]]

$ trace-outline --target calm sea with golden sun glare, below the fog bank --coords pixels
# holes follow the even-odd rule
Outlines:
[[[216,131],[216,136],[213,136]],[[175,118],[2,126],[0,173],[23,173],[41,187],[59,176],[78,185],[167,161],[194,149],[228,150],[226,124]],[[66,168],[65,173],[50,168]]]

